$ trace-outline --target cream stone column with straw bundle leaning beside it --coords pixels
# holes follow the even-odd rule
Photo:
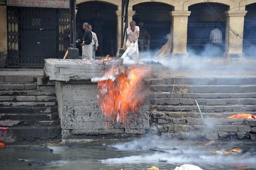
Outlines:
[[[187,23],[191,11],[171,11],[173,56],[187,56]]]

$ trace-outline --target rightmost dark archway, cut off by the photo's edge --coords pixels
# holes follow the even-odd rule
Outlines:
[[[256,3],[245,6],[247,14],[244,17],[244,40],[256,47]],[[256,57],[256,49],[243,41],[243,53],[246,57]]]

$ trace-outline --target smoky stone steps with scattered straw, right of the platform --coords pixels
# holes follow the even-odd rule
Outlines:
[[[153,134],[256,140],[256,120],[226,119],[238,113],[256,115],[256,78],[163,78],[151,85],[150,108]]]

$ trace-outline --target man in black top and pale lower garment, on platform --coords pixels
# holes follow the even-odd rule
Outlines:
[[[82,46],[82,59],[92,58],[92,32],[89,30],[89,23],[83,23],[83,43]]]

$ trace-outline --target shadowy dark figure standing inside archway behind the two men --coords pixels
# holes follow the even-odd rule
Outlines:
[[[101,17],[101,12],[96,11],[96,16],[92,19],[92,26],[94,29],[94,32],[97,34],[97,37],[99,39],[99,55],[105,56],[103,54],[103,25],[104,20]]]

